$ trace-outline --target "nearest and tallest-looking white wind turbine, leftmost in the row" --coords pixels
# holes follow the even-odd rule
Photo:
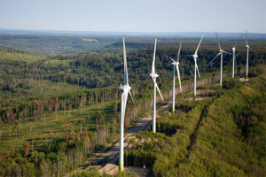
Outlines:
[[[127,106],[128,95],[130,95],[132,103],[133,97],[130,92],[128,66],[126,57],[125,39],[123,38],[123,53],[124,53],[124,85],[117,89],[121,91],[121,119],[120,119],[120,145],[119,145],[119,170],[124,170],[124,118]],[[134,104],[135,105],[135,104]]]

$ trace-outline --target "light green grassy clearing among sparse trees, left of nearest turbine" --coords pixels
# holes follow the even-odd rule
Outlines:
[[[35,120],[34,117],[29,118],[24,121],[21,125],[20,134],[18,135],[16,142],[16,135],[14,126],[12,123],[4,123],[3,135],[0,138],[0,152],[4,154],[6,151],[13,151],[15,148],[22,152],[23,147],[26,143],[32,145],[34,143],[34,150],[44,150],[45,148],[45,135],[48,136],[48,142],[51,141],[51,132],[53,132],[54,139],[56,142],[63,142],[65,139],[66,131],[71,139],[71,130],[76,132],[79,128],[79,120],[84,118],[86,115],[90,114],[90,124],[88,121],[82,127],[82,131],[85,129],[95,131],[96,126],[96,112],[102,112],[105,109],[106,112],[106,123],[110,124],[113,121],[113,101],[102,103],[102,104],[92,104],[86,105],[82,112],[79,113],[78,109],[74,109],[70,113],[68,118],[68,111],[64,114],[64,111],[58,113],[58,119],[56,119],[54,112],[51,112],[51,118],[46,114],[45,121],[46,127],[44,127],[44,121],[41,118]],[[32,135],[30,135],[30,125],[32,128]],[[74,126],[72,126],[74,125]],[[11,127],[11,139],[9,133],[9,127]],[[23,153],[22,153],[23,154]]]

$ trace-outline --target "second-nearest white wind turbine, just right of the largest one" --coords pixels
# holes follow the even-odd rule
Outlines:
[[[152,73],[149,74],[149,76],[145,79],[152,78],[153,80],[153,132],[156,133],[156,89],[158,89],[158,92],[160,94],[160,89],[157,86],[156,78],[159,77],[157,73],[155,73],[155,54],[156,54],[156,42],[157,39],[155,38],[155,46],[154,46],[154,53],[153,53],[153,65],[152,65]],[[163,100],[163,97],[160,94],[161,99]]]

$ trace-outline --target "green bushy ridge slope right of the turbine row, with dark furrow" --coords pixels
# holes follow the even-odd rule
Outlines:
[[[265,68],[246,83],[225,79],[212,98],[177,104],[190,107],[182,113],[160,112],[159,132],[139,132],[126,165],[151,166],[154,176],[265,176]]]

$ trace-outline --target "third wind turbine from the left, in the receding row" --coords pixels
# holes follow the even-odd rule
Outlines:
[[[173,58],[170,58],[173,63],[173,94],[172,94],[172,112],[175,113],[175,82],[176,82],[176,73],[177,72],[177,76],[178,76],[178,81],[179,81],[179,87],[180,87],[180,91],[182,92],[182,88],[181,88],[181,81],[180,81],[180,73],[179,73],[179,56],[180,56],[180,50],[181,50],[181,45],[182,42],[180,43],[179,49],[178,49],[178,53],[177,53],[177,58],[176,61]],[[175,71],[176,70],[176,71]]]

